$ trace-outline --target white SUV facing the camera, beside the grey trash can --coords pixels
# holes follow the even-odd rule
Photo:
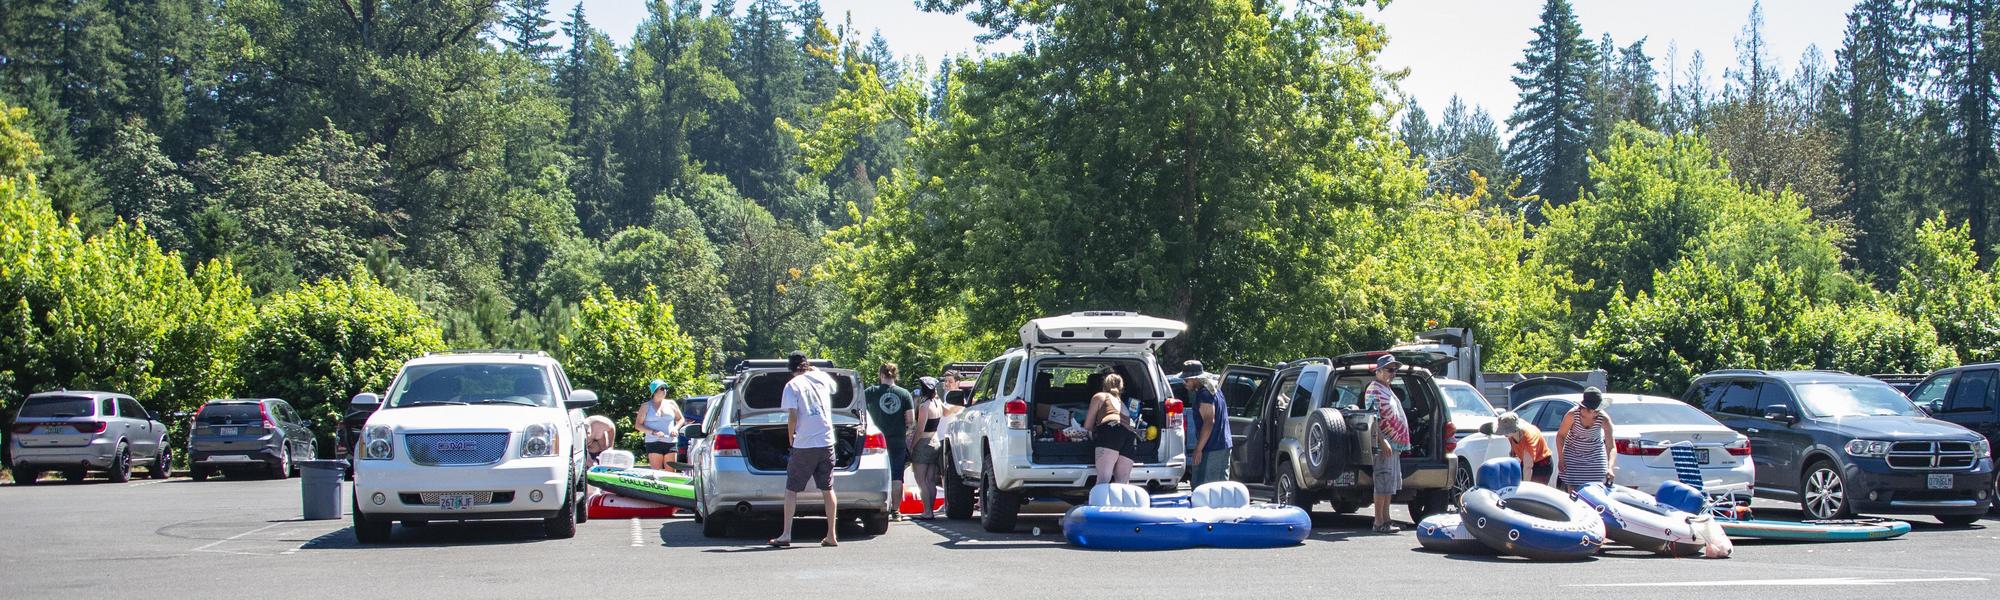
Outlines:
[[[390,522],[540,518],[550,538],[584,520],[584,408],[590,390],[542,352],[440,352],[402,366],[362,426],[354,536],[388,542]]]

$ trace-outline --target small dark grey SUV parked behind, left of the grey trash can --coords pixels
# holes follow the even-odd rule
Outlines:
[[[194,414],[188,440],[188,472],[206,480],[218,470],[234,474],[266,472],[288,478],[300,460],[318,456],[312,426],[278,398],[208,400]]]

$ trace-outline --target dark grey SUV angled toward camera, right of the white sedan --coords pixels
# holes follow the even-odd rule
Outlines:
[[[1930,514],[1970,524],[1992,502],[1986,438],[1926,416],[1880,380],[1718,370],[1680,400],[1748,436],[1756,496],[1798,502],[1808,518]]]

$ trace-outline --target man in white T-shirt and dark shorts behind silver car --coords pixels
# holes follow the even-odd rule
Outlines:
[[[792,546],[792,516],[798,512],[798,492],[810,480],[826,502],[826,540],[820,546],[840,546],[836,526],[840,504],[834,500],[834,376],[812,368],[806,352],[786,356],[792,380],[784,384],[784,428],[792,434],[792,460],[784,466],[784,530],[770,540],[776,548]]]

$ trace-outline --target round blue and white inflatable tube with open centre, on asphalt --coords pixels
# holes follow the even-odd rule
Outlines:
[[[1604,546],[1604,518],[1570,494],[1522,482],[1520,460],[1486,460],[1478,482],[1460,514],[1486,546],[1532,560],[1582,560]]]

